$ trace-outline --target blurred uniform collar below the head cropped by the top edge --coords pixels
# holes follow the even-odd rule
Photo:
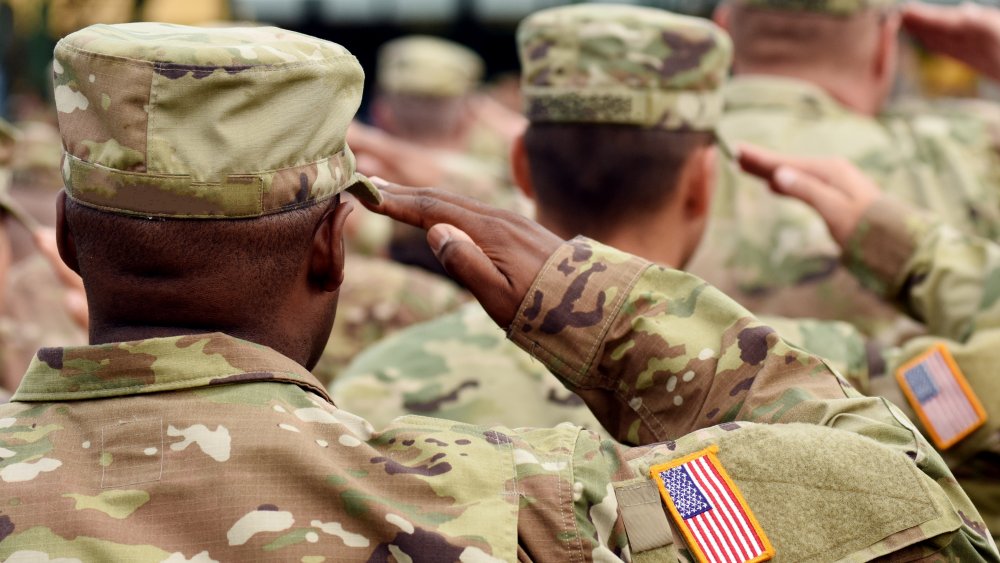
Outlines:
[[[777,108],[816,116],[853,114],[819,86],[784,76],[734,76],[723,89],[725,111]]]

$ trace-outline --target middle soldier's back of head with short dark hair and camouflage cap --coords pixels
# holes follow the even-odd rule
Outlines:
[[[539,208],[598,238],[671,199],[710,145],[732,47],[706,20],[652,8],[570,6],[518,29]]]

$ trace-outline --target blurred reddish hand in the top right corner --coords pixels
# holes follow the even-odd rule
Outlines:
[[[1000,10],[966,2],[904,4],[901,11],[903,27],[928,49],[1000,80]]]

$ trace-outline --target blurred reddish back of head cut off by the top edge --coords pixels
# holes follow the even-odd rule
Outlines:
[[[727,27],[737,72],[851,76],[872,65],[895,0],[733,0]]]

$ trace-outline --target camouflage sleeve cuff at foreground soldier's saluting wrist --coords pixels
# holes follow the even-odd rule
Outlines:
[[[564,243],[535,278],[508,338],[567,383],[597,386],[591,372],[601,343],[649,266],[584,237]]]

